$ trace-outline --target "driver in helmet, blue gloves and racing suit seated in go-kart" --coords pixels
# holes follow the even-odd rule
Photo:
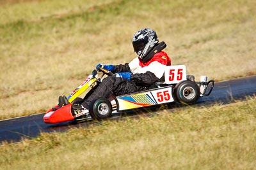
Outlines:
[[[120,65],[98,64],[96,69],[103,67],[108,69],[115,76],[108,76],[102,80],[99,87],[89,96],[84,97],[83,103],[72,104],[72,111],[75,113],[88,113],[89,104],[100,97],[108,98],[112,94],[120,96],[141,90],[147,90],[156,81],[163,78],[164,66],[171,65],[171,59],[162,50],[166,44],[159,43],[156,31],[152,29],[141,29],[132,38],[134,52],[138,57],[129,63]],[[59,97],[59,106],[68,104],[67,97]]]

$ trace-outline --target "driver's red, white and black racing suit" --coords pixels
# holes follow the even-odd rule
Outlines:
[[[164,67],[170,65],[171,59],[168,57],[167,53],[163,51],[156,53],[154,57],[147,62],[142,62],[142,60],[137,57],[130,63],[116,65],[114,66],[115,69],[113,73],[130,72],[132,73],[131,80],[115,76],[104,78],[99,87],[97,87],[90,96],[84,98],[82,105],[88,108],[88,104],[90,104],[91,101],[99,99],[100,97],[108,98],[112,94],[120,96],[147,90],[150,85],[162,78],[164,75]]]

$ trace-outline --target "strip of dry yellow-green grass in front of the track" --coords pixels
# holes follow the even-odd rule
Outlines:
[[[2,169],[255,169],[255,97],[0,147]]]

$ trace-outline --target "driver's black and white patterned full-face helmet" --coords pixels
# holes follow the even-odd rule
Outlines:
[[[148,52],[158,43],[156,31],[152,29],[141,29],[137,31],[132,38],[134,52],[143,60]]]

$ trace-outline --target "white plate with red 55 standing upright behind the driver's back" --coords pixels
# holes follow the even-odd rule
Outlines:
[[[186,66],[166,66],[164,69],[164,79],[166,83],[175,84],[186,80]]]

